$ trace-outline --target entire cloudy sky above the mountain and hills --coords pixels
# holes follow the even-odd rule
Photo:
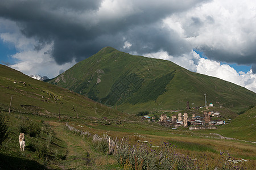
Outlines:
[[[105,46],[256,92],[255,0],[1,0],[0,62],[57,76]]]

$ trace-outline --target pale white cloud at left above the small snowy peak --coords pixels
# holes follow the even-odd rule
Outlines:
[[[0,24],[3,22],[6,22],[6,20],[0,20]],[[35,45],[40,45],[38,41],[23,36],[13,22],[7,22],[7,24],[5,24],[6,30],[8,30],[9,27],[11,31],[0,33],[0,39],[6,44],[14,45],[15,49],[18,51],[16,54],[10,56],[18,59],[17,63],[10,65],[13,69],[19,70],[27,75],[40,74],[53,78],[59,75],[61,69],[67,70],[76,64],[75,59],[73,59],[72,62],[57,65],[54,58],[51,57],[53,42],[43,46],[40,50],[36,50]]]

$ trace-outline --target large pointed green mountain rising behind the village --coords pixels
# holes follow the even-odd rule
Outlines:
[[[68,88],[128,113],[184,109],[207,104],[242,111],[256,94],[212,76],[193,73],[171,61],[133,56],[106,47],[49,83]]]

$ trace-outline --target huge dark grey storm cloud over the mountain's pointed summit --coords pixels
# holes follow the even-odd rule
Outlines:
[[[133,44],[131,51],[141,54],[163,49],[172,56],[179,56],[188,52],[191,46],[170,28],[163,28],[160,20],[201,2],[123,1],[120,3],[127,3],[131,12],[119,11],[114,16],[106,12],[105,16],[100,16],[102,1],[97,0],[2,0],[0,17],[15,21],[23,35],[38,40],[36,50],[53,42],[51,54],[59,64],[73,58],[80,61],[105,46],[123,50],[125,41]]]

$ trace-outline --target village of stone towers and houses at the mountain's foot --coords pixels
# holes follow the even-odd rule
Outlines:
[[[209,107],[212,108],[213,104],[210,103]],[[189,104],[187,103],[187,109],[189,108]],[[179,111],[162,111],[162,112],[179,112]],[[197,116],[196,114],[192,114],[191,117],[188,116],[188,113],[184,112],[174,114],[168,117],[166,114],[161,114],[160,118],[156,120],[155,117],[143,116],[144,120],[148,122],[154,121],[158,122],[158,124],[162,126],[166,126],[172,129],[177,129],[181,126],[184,128],[189,128],[189,130],[198,130],[198,129],[216,129],[216,125],[224,125],[226,122],[220,119],[220,112],[214,111],[204,111],[204,116]]]

